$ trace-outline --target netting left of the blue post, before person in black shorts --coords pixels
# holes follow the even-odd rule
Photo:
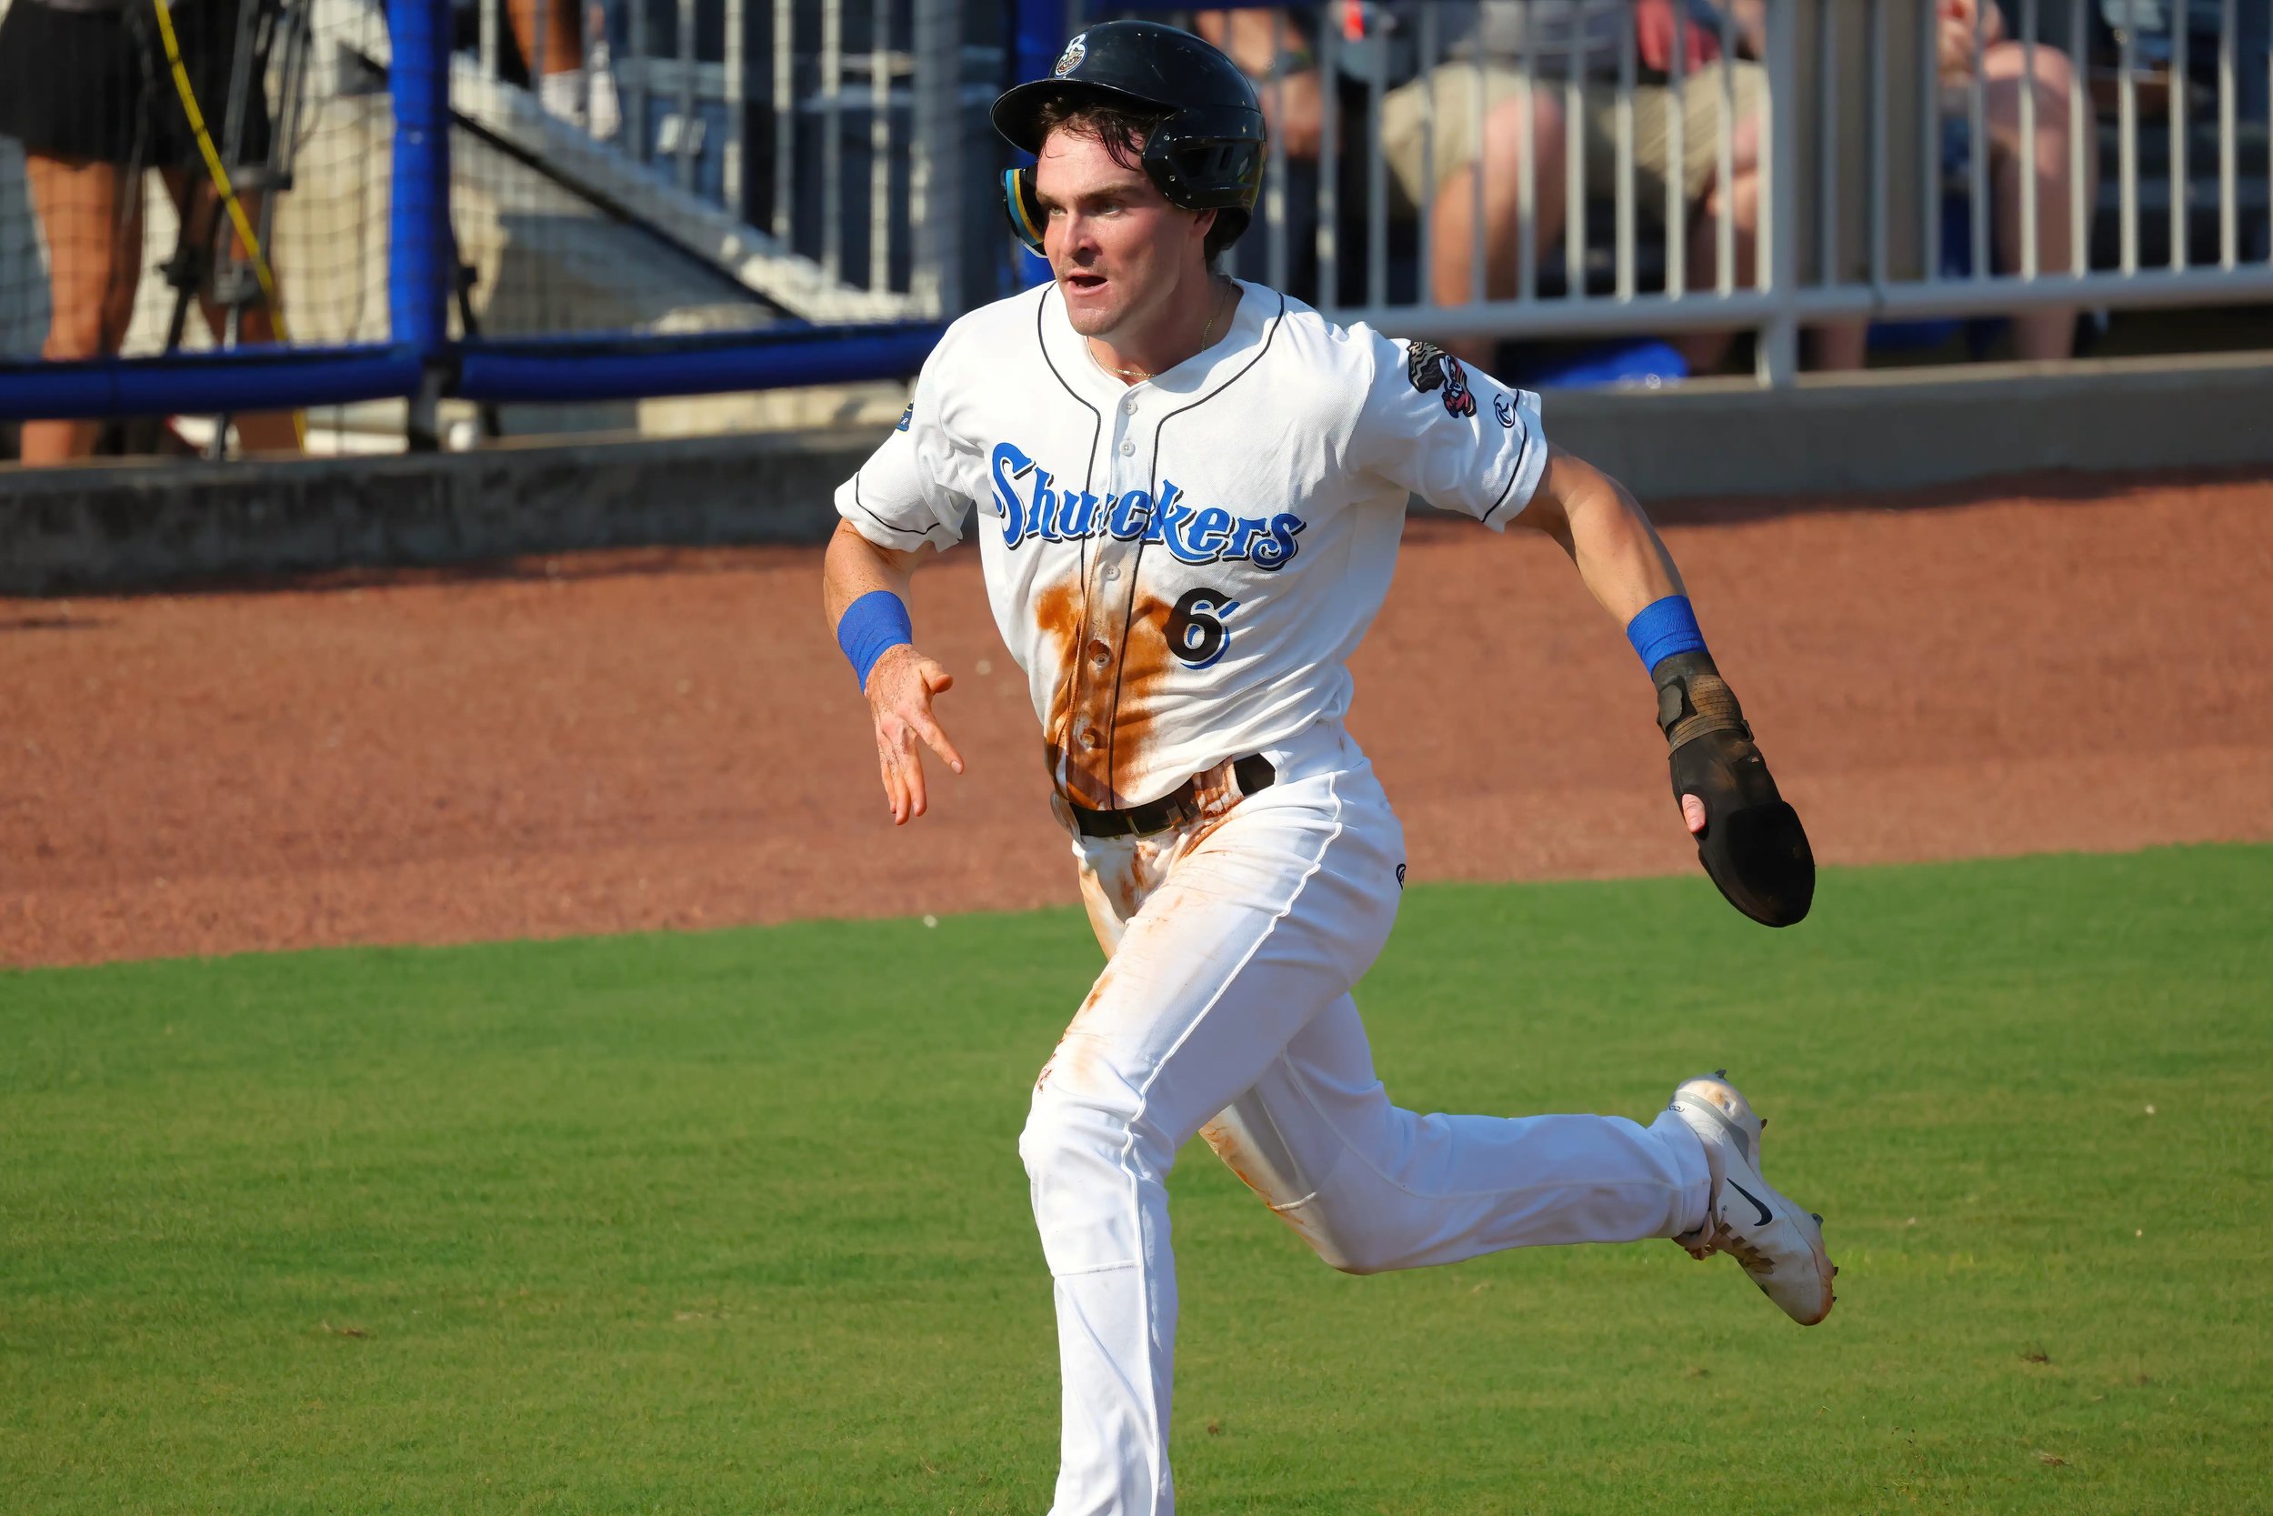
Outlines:
[[[377,7],[0,11],[0,357],[386,339]]]

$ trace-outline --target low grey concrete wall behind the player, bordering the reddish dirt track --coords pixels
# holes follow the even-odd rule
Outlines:
[[[1643,500],[1852,495],[2075,468],[2273,466],[2273,355],[1557,393],[1548,434]],[[255,464],[0,468],[0,593],[827,534],[880,427]]]

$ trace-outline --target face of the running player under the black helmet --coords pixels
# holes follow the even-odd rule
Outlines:
[[[1207,218],[1182,211],[1096,136],[1052,132],[1034,166],[1041,245],[1082,336],[1143,325],[1207,277]]]

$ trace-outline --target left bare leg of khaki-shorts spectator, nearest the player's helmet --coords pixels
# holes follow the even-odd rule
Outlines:
[[[1530,139],[1530,148],[1525,148]],[[1484,293],[1507,300],[1516,293],[1523,236],[1523,155],[1534,155],[1532,248],[1546,250],[1564,223],[1564,116],[1546,91],[1514,93],[1484,116],[1480,161],[1462,164],[1437,186],[1430,214],[1430,298],[1437,305],[1468,305],[1475,293],[1475,177],[1484,175]],[[1491,366],[1493,339],[1471,336],[1443,343],[1452,357]]]

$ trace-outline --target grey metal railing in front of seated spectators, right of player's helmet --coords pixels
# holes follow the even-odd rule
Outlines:
[[[1593,57],[1564,45],[1566,25],[1600,16],[1602,0],[1505,0],[1502,18],[1521,36],[1493,55],[1471,25],[1466,5],[1332,5],[1271,11],[1273,41],[1305,43],[1325,80],[1321,91],[1321,152],[1314,189],[1314,291],[1307,293],[1337,320],[1366,320],[1414,336],[1564,339],[1618,334],[1689,334],[1755,330],[1757,377],[1789,384],[1798,370],[1798,334],[1818,323],[2012,316],[2034,309],[2139,309],[2178,305],[2239,305],[2273,300],[2273,166],[2266,152],[2262,105],[2239,109],[2243,70],[2273,80],[2262,25],[2246,30],[2246,7],[2266,0],[2196,0],[2182,18],[2214,7],[2214,34],[2189,36],[2184,20],[2168,45],[2146,52],[2148,11],[2171,14],[2155,0],[2009,0],[2007,45],[1998,48],[1991,18],[1998,0],[1982,0],[1971,55],[1959,82],[1946,84],[1932,66],[1939,48],[1939,9],[1912,0],[1757,0],[1748,25],[1737,7],[1675,0],[1666,7],[1671,50],[1650,73],[1639,57],[1639,9],[1596,34]],[[1609,0],[1616,9],[1621,0]],[[1259,9],[1259,7],[1234,7]],[[1157,7],[1093,7],[1093,16],[1162,14]],[[1223,11],[1218,11],[1221,16]],[[1184,9],[1171,18],[1200,25]],[[1573,20],[1580,18],[1580,20]],[[1075,11],[1068,27],[1084,20]],[[1721,59],[1705,80],[1691,64],[1693,32],[1709,32]],[[2071,39],[2055,57],[2048,32]],[[1614,32],[1614,41],[1605,41]],[[2248,43],[2248,45],[2246,45]],[[2205,70],[2200,52],[2214,64]],[[2255,48],[2255,52],[2250,52]],[[1273,45],[1273,70],[1259,80],[1266,114],[1287,98],[1277,61],[1300,61],[1300,48]],[[2018,80],[1991,80],[1996,55]],[[1907,64],[1907,68],[1905,68]],[[2073,64],[2073,66],[2071,66]],[[1757,116],[1739,107],[1739,70],[1757,70]],[[1457,75],[1468,75],[1457,77]],[[1487,89],[1487,82],[1491,89]],[[1739,195],[1684,195],[1682,175],[1664,175],[1664,195],[1643,198],[1637,173],[1641,130],[1637,89],[1664,89],[1673,100],[1702,82],[1712,91],[1705,130],[1712,132],[1712,184],[1727,186],[1757,173],[1750,225]],[[2025,86],[2023,86],[2025,84]],[[1487,161],[1487,173],[1459,175],[1459,164],[1430,159],[1443,139],[1489,141],[1498,109],[1493,89],[1541,98],[1559,107],[1564,159],[1543,164],[1537,134],[1516,132],[1514,161]],[[2016,95],[2016,143],[1998,145],[1991,102]],[[2155,111],[2148,109],[2153,95]],[[2262,100],[2262,95],[2259,95]],[[2166,107],[2164,107],[2166,102]],[[1423,166],[1418,189],[1402,195],[1384,150],[1384,118],[1402,105],[1418,111]],[[2103,109],[2107,107],[2107,109]],[[1448,120],[1446,111],[1466,111]],[[2034,164],[2039,148],[2066,130],[2066,200],[2043,205],[2043,173],[2012,173],[2016,202],[1998,198],[1996,161],[2005,152]],[[2150,123],[2159,114],[2162,123]],[[1587,145],[1577,123],[1593,120],[1609,145],[1609,184],[1589,191]],[[2214,123],[2214,177],[2196,170],[2198,123]],[[1959,125],[1948,125],[1959,123]],[[1664,157],[1682,164],[1693,123],[1666,111]],[[1505,139],[1507,132],[1500,132]],[[1962,139],[1948,164],[1946,141]],[[2162,141],[2155,141],[2162,139]],[[1857,152],[1859,148],[1859,152]],[[2150,152],[2153,148],[2153,152]],[[1600,152],[1600,150],[1598,150]],[[2114,173],[2093,189],[2107,157]],[[1746,168],[1757,159],[1757,168]],[[2155,173],[2148,175],[2148,159]],[[1552,170],[1552,173],[1548,173]],[[1559,236],[1541,236],[1550,207],[1534,193],[1543,180],[1562,182],[1552,207]],[[1600,173],[1596,180],[1600,182]],[[1284,284],[1298,234],[1287,207],[1298,175],[1287,152],[1268,157],[1262,205],[1266,255],[1262,277]],[[1516,214],[1502,245],[1487,248],[1487,184],[1514,182]],[[1468,195],[1466,216],[1443,216],[1443,195]],[[2150,227],[2153,211],[2166,227]],[[2200,225],[2209,211],[2214,230]],[[1953,236],[1959,257],[1946,266],[1946,216],[1964,220]],[[2018,234],[1998,236],[1998,220],[2018,220]],[[2057,216],[2066,225],[2055,227]],[[1466,225],[1466,284],[1455,295],[1430,289],[1443,261],[1437,239],[1446,225]],[[1709,248],[1709,277],[1691,280],[1691,250],[1664,227],[1698,227]],[[2141,230],[2166,241],[2159,259],[2141,252]],[[2112,239],[2107,232],[2112,230]],[[1250,234],[1252,236],[1252,234]],[[1512,241],[1514,248],[1507,248]],[[2109,243],[2100,245],[2098,243]],[[1755,250],[1750,259],[1743,248]],[[1859,243],[1859,245],[1855,245]],[[2016,243],[2016,245],[2014,245]],[[2041,250],[2064,245],[2057,266]],[[1457,261],[1457,259],[1455,259]],[[1746,268],[1750,264],[1750,268]]]

